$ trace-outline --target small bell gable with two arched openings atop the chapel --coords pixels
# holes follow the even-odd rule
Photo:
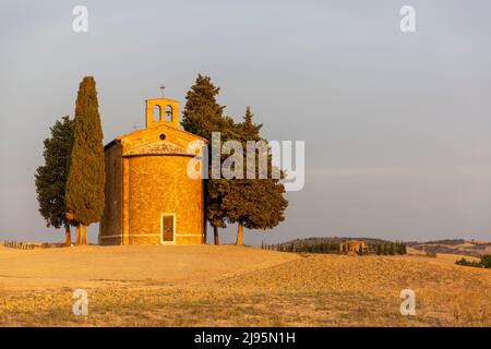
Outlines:
[[[179,129],[179,101],[167,98],[147,99],[146,128],[158,123],[166,123]]]

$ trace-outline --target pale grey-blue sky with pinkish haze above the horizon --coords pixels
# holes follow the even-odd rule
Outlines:
[[[72,10],[88,9],[88,33]],[[399,9],[416,9],[403,34]],[[37,212],[43,140],[94,75],[105,142],[197,73],[270,140],[306,141],[286,221],[246,243],[322,236],[491,240],[491,3],[2,1],[0,241],[61,241]],[[89,229],[97,240],[97,227]],[[235,227],[223,240],[235,239]]]

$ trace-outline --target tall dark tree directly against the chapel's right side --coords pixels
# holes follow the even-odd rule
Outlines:
[[[208,172],[212,166],[212,133],[220,132],[221,141],[232,139],[233,120],[224,117],[225,106],[216,101],[219,87],[216,87],[209,76],[197,75],[185,97],[182,127],[185,131],[202,136],[208,141]],[[219,244],[218,228],[225,228],[225,212],[223,206],[223,190],[216,179],[205,180],[205,216],[213,227],[214,243]],[[206,241],[206,230],[205,230]]]

